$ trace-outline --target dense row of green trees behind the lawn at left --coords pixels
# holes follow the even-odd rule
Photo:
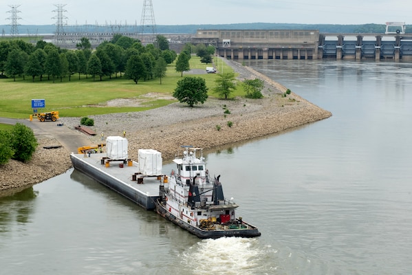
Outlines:
[[[38,41],[36,45],[21,40],[0,41],[0,77],[31,77],[32,81],[70,81],[75,74],[91,76],[93,80],[122,74],[133,80],[151,80],[165,76],[166,66],[173,63],[177,54],[169,49],[167,39],[158,35],[153,44],[146,46],[138,39],[116,34],[111,41],[91,49],[87,38],[80,40],[76,50],[56,47],[52,43]]]

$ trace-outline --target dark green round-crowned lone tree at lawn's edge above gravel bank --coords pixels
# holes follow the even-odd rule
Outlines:
[[[177,81],[177,87],[173,92],[173,97],[179,102],[186,102],[190,107],[194,104],[204,103],[208,98],[208,87],[206,80],[201,77],[186,76]]]

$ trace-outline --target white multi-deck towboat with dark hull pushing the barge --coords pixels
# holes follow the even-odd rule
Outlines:
[[[225,199],[220,176],[210,178],[202,149],[182,147],[183,156],[173,160],[177,169],[160,184],[156,211],[202,239],[260,236],[255,226],[236,217],[238,205]]]

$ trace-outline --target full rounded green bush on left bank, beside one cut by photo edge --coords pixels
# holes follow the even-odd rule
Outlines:
[[[13,159],[28,162],[36,151],[37,140],[33,130],[24,124],[16,123],[12,129],[11,147],[14,150]]]

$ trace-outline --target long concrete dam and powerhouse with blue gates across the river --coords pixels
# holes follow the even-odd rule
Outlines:
[[[197,30],[194,44],[230,59],[412,60],[412,34],[320,34],[318,30]]]

